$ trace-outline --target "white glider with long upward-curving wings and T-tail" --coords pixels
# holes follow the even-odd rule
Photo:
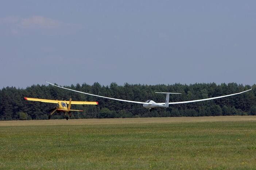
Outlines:
[[[46,82],[47,82],[47,81],[46,81]],[[51,84],[51,85],[53,85],[53,86],[57,86],[57,85],[52,84],[52,83],[50,83],[50,82],[47,82],[47,83],[49,83],[49,84]],[[130,103],[143,104],[143,107],[144,107],[144,108],[147,108],[147,109],[150,109],[150,110],[151,110],[152,108],[157,108],[157,107],[168,108],[169,105],[172,105],[172,104],[191,103],[191,102],[206,101],[206,100],[213,100],[213,99],[216,99],[216,98],[234,96],[234,95],[241,94],[241,93],[244,93],[244,92],[248,92],[249,90],[252,90],[252,88],[251,88],[251,89],[245,90],[245,91],[243,91],[243,92],[234,93],[234,94],[228,94],[228,95],[225,95],[225,96],[211,97],[211,98],[205,98],[205,99],[199,99],[199,100],[181,101],[181,102],[169,102],[169,95],[170,95],[170,94],[181,94],[181,93],[155,92],[155,93],[164,93],[164,94],[166,94],[165,103],[156,103],[156,102],[154,102],[153,100],[147,100],[146,102],[122,100],[122,99],[117,99],[117,98],[111,98],[111,97],[105,97],[105,96],[98,96],[98,95],[96,95],[96,94],[90,94],[90,93],[85,93],[85,92],[79,92],[79,91],[77,91],[77,90],[72,90],[72,89],[68,89],[68,88],[61,87],[61,86],[57,86],[57,87],[62,88],[62,89],[71,90],[71,91],[73,91],[73,92],[78,92],[78,93],[83,93],[83,94],[88,94],[88,95],[96,96],[96,97],[103,97],[103,98],[108,98],[108,99],[117,100],[117,101],[124,101],[124,102],[130,102]]]

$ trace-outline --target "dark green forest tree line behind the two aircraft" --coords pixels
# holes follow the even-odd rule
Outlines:
[[[74,90],[100,96],[132,101],[154,100],[164,102],[165,95],[155,92],[176,92],[170,94],[170,102],[197,100],[202,98],[238,93],[251,88],[249,85],[236,83],[220,84],[196,83],[190,85],[141,85],[123,86],[111,83],[109,86],[94,83],[65,86]],[[0,90],[0,120],[40,120],[48,119],[49,110],[55,104],[26,101],[24,97],[51,100],[98,101],[98,105],[72,105],[71,109],[84,110],[73,112],[71,118],[128,118],[128,117],[180,117],[180,116],[221,116],[221,115],[256,115],[256,85],[249,92],[236,96],[188,104],[170,105],[170,108],[156,108],[152,112],[140,104],[119,102],[81,93],[71,92],[52,85],[32,85],[26,89],[6,87]],[[64,118],[55,113],[53,119]]]

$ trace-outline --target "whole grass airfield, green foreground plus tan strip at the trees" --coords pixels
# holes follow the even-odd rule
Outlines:
[[[256,169],[256,116],[0,121],[0,169]]]

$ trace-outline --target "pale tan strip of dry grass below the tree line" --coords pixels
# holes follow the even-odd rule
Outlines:
[[[256,116],[69,119],[68,121],[63,118],[61,120],[0,121],[0,126],[150,124],[150,123],[219,122],[219,121],[256,121]]]

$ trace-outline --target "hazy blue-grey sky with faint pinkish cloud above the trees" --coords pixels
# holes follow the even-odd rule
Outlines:
[[[256,1],[1,0],[0,88],[253,85]]]

